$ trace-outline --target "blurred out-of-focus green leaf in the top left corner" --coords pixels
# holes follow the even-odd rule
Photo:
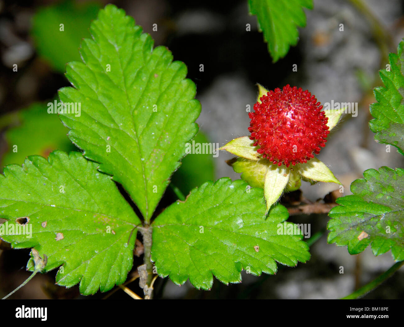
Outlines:
[[[32,19],[32,36],[39,55],[64,73],[68,61],[80,60],[78,45],[82,38],[90,36],[88,26],[99,8],[97,3],[72,1],[40,8]]]

